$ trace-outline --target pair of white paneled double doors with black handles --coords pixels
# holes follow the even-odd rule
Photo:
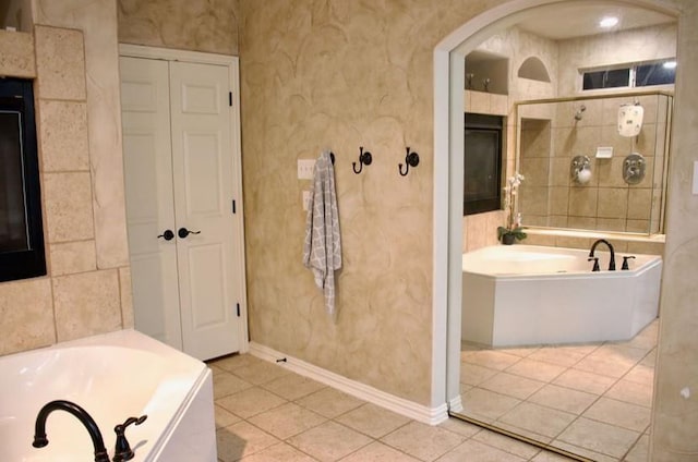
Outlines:
[[[121,57],[120,70],[135,328],[200,360],[239,351],[230,68]]]

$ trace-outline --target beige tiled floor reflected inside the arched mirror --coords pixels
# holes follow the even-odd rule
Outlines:
[[[464,414],[599,462],[646,462],[658,325],[628,342],[464,343]]]

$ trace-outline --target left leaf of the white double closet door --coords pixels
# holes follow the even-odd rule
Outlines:
[[[121,122],[135,328],[182,349],[167,61],[121,58]],[[160,238],[158,238],[160,236]]]

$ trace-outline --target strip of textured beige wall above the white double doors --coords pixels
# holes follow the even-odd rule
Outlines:
[[[238,54],[238,0],[117,0],[119,41]]]

